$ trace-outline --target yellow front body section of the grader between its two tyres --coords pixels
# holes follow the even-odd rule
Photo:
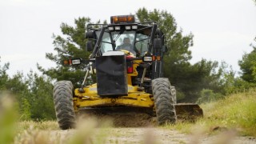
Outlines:
[[[134,106],[134,107],[154,107],[151,94],[138,91],[138,86],[128,85],[128,95],[120,97],[100,97],[97,94],[97,85],[86,86],[85,93],[74,90],[74,109],[78,111],[82,107],[91,106]]]

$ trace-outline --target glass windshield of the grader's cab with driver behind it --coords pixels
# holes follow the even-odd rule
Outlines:
[[[96,32],[97,36],[100,34],[100,31]],[[111,33],[113,41],[116,44],[114,50],[128,50],[134,56],[143,56],[145,52],[148,50],[149,44],[149,36],[144,34],[137,34],[136,31],[114,31]],[[136,41],[135,41],[136,36]],[[105,32],[102,37],[102,44],[101,44],[101,52],[102,54],[106,51],[113,50],[110,33]]]

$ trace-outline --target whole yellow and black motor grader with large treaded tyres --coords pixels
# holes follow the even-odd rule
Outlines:
[[[70,81],[54,84],[54,107],[62,130],[75,126],[80,110],[137,110],[156,116],[158,125],[174,123],[179,115],[202,116],[196,104],[177,104],[176,90],[163,78],[163,58],[168,50],[157,22],[135,22],[133,15],[113,16],[110,24],[88,24],[86,50],[90,57],[68,64],[85,65],[82,86]],[[124,39],[129,44],[122,43]],[[97,82],[86,84],[90,74]]]

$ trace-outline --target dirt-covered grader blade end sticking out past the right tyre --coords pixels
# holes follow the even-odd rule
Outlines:
[[[202,117],[202,108],[194,103],[174,104],[178,120],[191,120]]]

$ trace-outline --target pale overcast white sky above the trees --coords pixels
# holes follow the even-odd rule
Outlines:
[[[238,60],[256,45],[256,4],[253,0],[0,0],[0,66],[10,62],[8,74],[38,72],[55,66],[46,53],[55,53],[53,34],[62,34],[62,22],[74,26],[74,18],[92,22],[110,16],[166,10],[183,34],[194,34],[191,63],[202,58],[226,62],[239,71]]]

